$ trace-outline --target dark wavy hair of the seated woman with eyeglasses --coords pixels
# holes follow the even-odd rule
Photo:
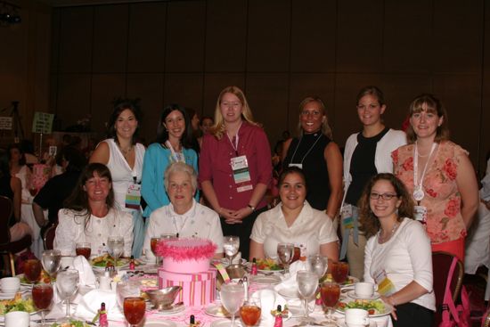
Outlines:
[[[396,192],[396,197],[402,200],[400,206],[398,207],[398,221],[402,221],[404,217],[413,219],[413,201],[412,196],[406,190],[405,185],[402,181],[396,178],[395,175],[389,173],[382,173],[375,175],[364,187],[361,199],[358,202],[359,207],[359,227],[365,234],[366,238],[370,238],[372,235],[378,233],[380,230],[380,220],[378,217],[374,216],[370,206],[370,195],[372,186],[380,180],[388,181],[389,184],[393,186]]]

